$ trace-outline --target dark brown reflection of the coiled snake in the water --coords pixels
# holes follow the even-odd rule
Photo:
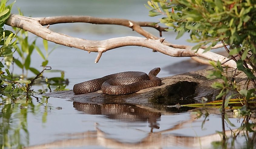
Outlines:
[[[151,112],[149,110],[137,107],[135,105],[125,104],[89,104],[73,102],[73,106],[76,110],[84,112],[85,114],[98,114],[106,115],[111,119],[117,119],[121,121],[148,121],[151,131],[153,128],[159,129],[161,113]]]

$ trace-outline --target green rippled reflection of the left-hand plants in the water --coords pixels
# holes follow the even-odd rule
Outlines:
[[[1,96],[0,102],[0,146],[22,148],[29,144],[28,113],[43,112],[42,123],[45,123],[51,105],[46,97],[36,97],[37,103],[33,103],[31,96],[7,96]]]

